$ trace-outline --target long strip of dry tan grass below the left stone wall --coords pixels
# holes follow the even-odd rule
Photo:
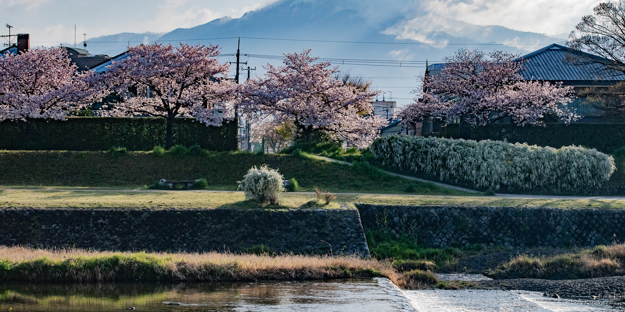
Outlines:
[[[146,253],[0,246],[0,280],[239,281],[381,276],[402,285],[391,263],[356,256]]]

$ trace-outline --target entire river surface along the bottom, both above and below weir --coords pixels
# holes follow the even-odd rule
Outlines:
[[[401,291],[386,278],[254,283],[0,284],[0,311],[624,311],[610,300],[502,290]]]

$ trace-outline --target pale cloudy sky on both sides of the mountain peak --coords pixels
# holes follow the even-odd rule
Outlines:
[[[307,0],[289,0],[307,1]],[[337,0],[340,1],[340,0]],[[119,32],[168,32],[247,11],[276,0],[0,0],[0,22],[15,33],[31,34],[32,46],[82,41]],[[381,1],[382,2],[382,1]],[[448,16],[478,25],[501,25],[519,31],[557,35],[569,32],[597,0],[422,0],[430,16]],[[372,12],[375,14],[375,12]],[[6,28],[0,31],[8,34]]]

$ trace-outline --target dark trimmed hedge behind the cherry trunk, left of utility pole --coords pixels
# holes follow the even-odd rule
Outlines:
[[[0,149],[6,150],[152,150],[165,145],[166,120],[158,117],[68,117],[36,120],[31,140],[23,122],[0,122]],[[200,145],[202,149],[237,149],[236,122],[206,126],[194,118],[177,118],[174,145]]]

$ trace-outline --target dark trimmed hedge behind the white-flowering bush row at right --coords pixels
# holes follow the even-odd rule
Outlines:
[[[487,124],[471,128],[450,124],[442,127],[441,136],[451,139],[507,140],[510,143],[550,146],[559,149],[577,145],[612,154],[625,146],[625,124],[547,124],[546,127],[515,124]]]

